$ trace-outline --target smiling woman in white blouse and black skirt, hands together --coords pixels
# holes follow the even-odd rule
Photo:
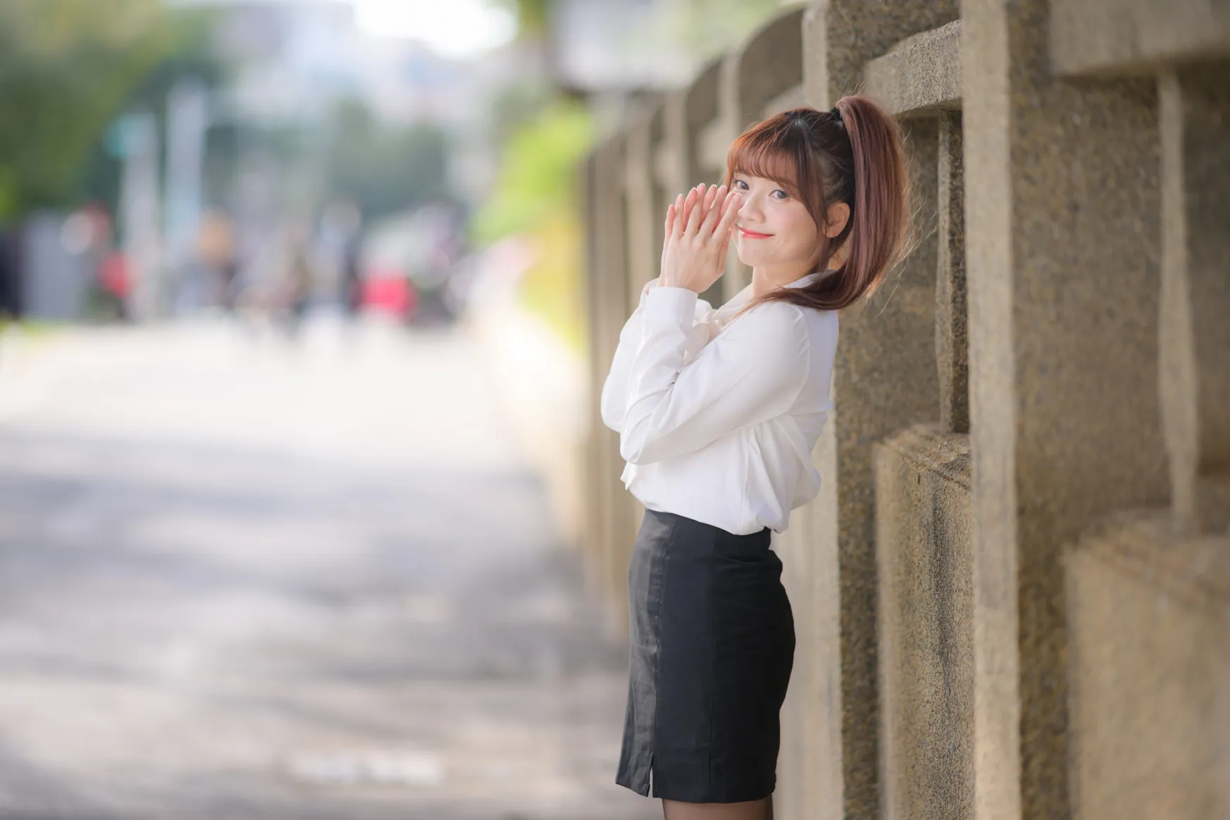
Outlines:
[[[616,782],[648,795],[652,777],[667,820],[772,816],[795,626],[771,534],[819,493],[838,311],[899,254],[907,179],[866,97],[750,127],[724,184],[667,209],[661,275],[620,333],[601,416],[646,511]],[[713,310],[697,294],[731,239],[752,284]]]

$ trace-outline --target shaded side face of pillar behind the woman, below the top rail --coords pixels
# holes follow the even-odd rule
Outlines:
[[[838,543],[840,590],[823,594],[841,604],[840,629],[823,639],[840,645],[839,669],[829,669],[840,701],[827,701],[840,714],[846,810],[876,816],[878,697],[876,692],[876,566],[871,443],[919,422],[938,420],[940,392],[935,359],[936,144],[935,120],[918,119],[907,129],[911,176],[919,192],[920,241],[867,301],[843,311],[830,418],[835,436],[838,518],[825,538]],[[822,628],[824,628],[822,626]],[[825,765],[831,765],[828,761]],[[819,799],[818,797],[814,799]]]

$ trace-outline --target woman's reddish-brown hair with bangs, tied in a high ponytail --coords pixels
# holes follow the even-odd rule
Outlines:
[[[838,100],[836,114],[792,108],[750,125],[726,156],[726,186],[736,173],[777,182],[801,199],[819,227],[811,270],[834,273],[802,288],[774,288],[739,313],[765,301],[788,301],[815,310],[841,310],[870,296],[902,254],[909,223],[909,173],[897,120],[867,97]],[[824,234],[830,204],[850,205],[850,219],[834,237]]]

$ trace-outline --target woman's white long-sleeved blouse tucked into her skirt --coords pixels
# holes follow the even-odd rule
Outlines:
[[[838,344],[836,311],[770,301],[732,321],[750,299],[748,285],[715,310],[694,290],[651,282],[601,392],[629,492],[737,535],[785,531],[790,511],[820,492],[812,449],[833,409]]]

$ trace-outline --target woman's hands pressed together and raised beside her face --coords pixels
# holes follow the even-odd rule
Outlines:
[[[658,284],[702,293],[717,282],[726,269],[731,230],[742,202],[726,186],[699,184],[686,197],[679,194],[667,208]]]

